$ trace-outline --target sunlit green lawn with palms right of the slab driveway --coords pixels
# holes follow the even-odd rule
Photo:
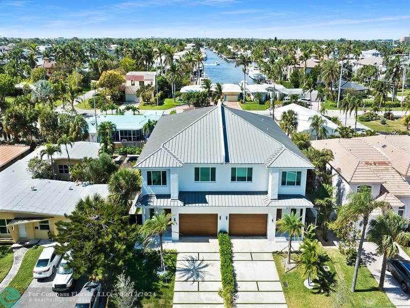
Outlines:
[[[339,253],[335,248],[323,248],[319,244],[319,253],[321,255],[320,263],[326,263],[330,266],[330,272],[327,273],[328,281],[334,278],[336,282],[344,279],[349,290],[353,279],[354,266],[346,264],[345,256]],[[285,254],[274,254],[276,268],[278,269],[279,278],[282,284],[283,293],[289,308],[316,308],[332,307],[332,298],[325,292],[320,293],[316,288],[308,290],[303,285],[306,278],[302,278],[302,268],[297,267],[288,273],[284,273],[282,258]],[[295,258],[297,258],[295,256]],[[327,261],[326,261],[327,260]],[[283,281],[288,287],[283,286]],[[349,293],[346,307],[393,307],[392,302],[388,299],[386,293],[378,291],[378,282],[372,276],[366,266],[359,268],[359,275],[356,284],[356,292]],[[334,286],[332,286],[333,288]]]

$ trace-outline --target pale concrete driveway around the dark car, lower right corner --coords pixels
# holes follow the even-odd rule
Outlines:
[[[410,258],[402,251],[401,248],[399,255],[407,260]],[[367,268],[372,273],[373,277],[380,281],[380,271],[381,271],[381,263],[382,263],[382,256],[378,256],[376,253],[376,245],[371,242],[364,242],[363,243],[363,252],[362,256],[365,260],[367,260],[366,265]],[[388,298],[392,301],[392,303],[397,307],[410,307],[410,294],[406,294],[401,290],[399,281],[396,280],[395,277],[389,272],[386,271],[386,276],[384,278],[384,291],[386,292]]]

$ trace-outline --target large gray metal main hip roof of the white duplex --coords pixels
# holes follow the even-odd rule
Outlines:
[[[290,167],[313,167],[273,119],[213,106],[161,117],[135,167],[181,167],[185,163],[270,167],[279,149],[288,150],[292,159],[280,158],[272,167],[290,163]]]

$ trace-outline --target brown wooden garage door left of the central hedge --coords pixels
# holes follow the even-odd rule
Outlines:
[[[180,235],[215,236],[217,233],[217,214],[179,214]]]

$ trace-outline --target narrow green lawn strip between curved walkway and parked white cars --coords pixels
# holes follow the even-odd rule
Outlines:
[[[43,247],[39,246],[37,249],[30,248],[23,258],[22,265],[18,269],[16,276],[10,281],[8,287],[14,287],[20,294],[23,294],[33,280],[33,268],[37,262],[38,257],[43,251]],[[3,307],[0,304],[0,307]]]

